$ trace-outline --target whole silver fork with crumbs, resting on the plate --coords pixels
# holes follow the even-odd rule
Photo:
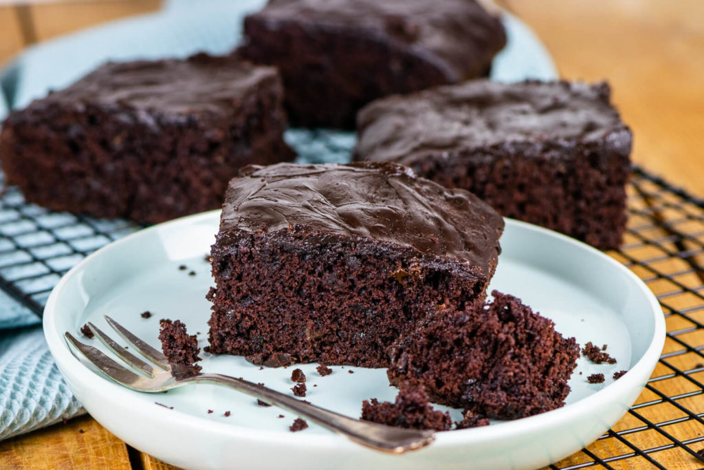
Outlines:
[[[227,387],[234,388],[234,390],[256,397],[263,402],[274,404],[298,416],[310,419],[310,421],[318,423],[320,426],[330,431],[340,433],[356,443],[393,454],[402,454],[409,450],[420,449],[420,447],[428,445],[435,439],[433,431],[394,428],[371,423],[369,421],[360,421],[359,419],[353,419],[339,413],[331,412],[328,409],[316,407],[314,404],[289,397],[289,395],[284,395],[283,393],[265,388],[256,383],[245,381],[241,378],[223,376],[219,373],[182,374],[180,371],[172,368],[168,358],[160,351],[155,350],[153,347],[146,344],[146,342],[137,338],[137,336],[130,333],[125,327],[120,326],[118,322],[111,319],[109,316],[106,315],[105,319],[123,340],[134,347],[135,350],[139,351],[146,359],[149,359],[152,364],[142,361],[142,359],[126,351],[93,323],[89,322],[88,327],[94,335],[101,340],[103,345],[106,345],[106,347],[120,357],[122,361],[125,361],[125,363],[144,375],[135,373],[134,370],[127,369],[118,364],[118,362],[106,356],[106,354],[103,354],[98,348],[85,345],[74,338],[68,331],[65,333],[65,336],[86,359],[100,369],[108,378],[132,390],[139,392],[161,392],[189,383],[226,385]]]

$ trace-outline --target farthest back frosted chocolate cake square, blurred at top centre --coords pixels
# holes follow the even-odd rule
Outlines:
[[[488,73],[505,43],[474,0],[270,0],[238,54],[279,68],[291,125],[353,128],[373,99]]]

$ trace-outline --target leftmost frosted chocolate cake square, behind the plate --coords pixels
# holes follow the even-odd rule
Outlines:
[[[107,63],[13,111],[8,184],[57,211],[156,223],[217,209],[249,163],[287,161],[275,68],[206,54]]]

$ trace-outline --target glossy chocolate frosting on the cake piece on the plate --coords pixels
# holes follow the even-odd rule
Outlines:
[[[316,240],[375,240],[467,261],[485,275],[501,230],[501,216],[474,194],[374,162],[248,166],[230,181],[220,221],[220,234],[293,231]]]

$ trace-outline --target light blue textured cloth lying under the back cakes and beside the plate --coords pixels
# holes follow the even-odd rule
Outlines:
[[[241,18],[264,3],[172,0],[158,13],[101,25],[27,49],[0,82],[8,103],[18,108],[44,97],[49,89],[69,85],[108,59],[184,57],[198,51],[226,54],[239,42]],[[555,78],[550,56],[529,28],[508,15],[503,21],[509,44],[497,56],[491,78]],[[0,117],[4,111],[0,107]],[[289,130],[286,139],[298,151],[299,161],[308,162],[344,162],[354,144],[350,133],[325,130]],[[37,316],[0,290],[0,328],[15,328],[0,331],[0,439],[84,412],[63,382],[41,327],[28,327],[37,323]],[[22,326],[27,328],[16,329]]]

